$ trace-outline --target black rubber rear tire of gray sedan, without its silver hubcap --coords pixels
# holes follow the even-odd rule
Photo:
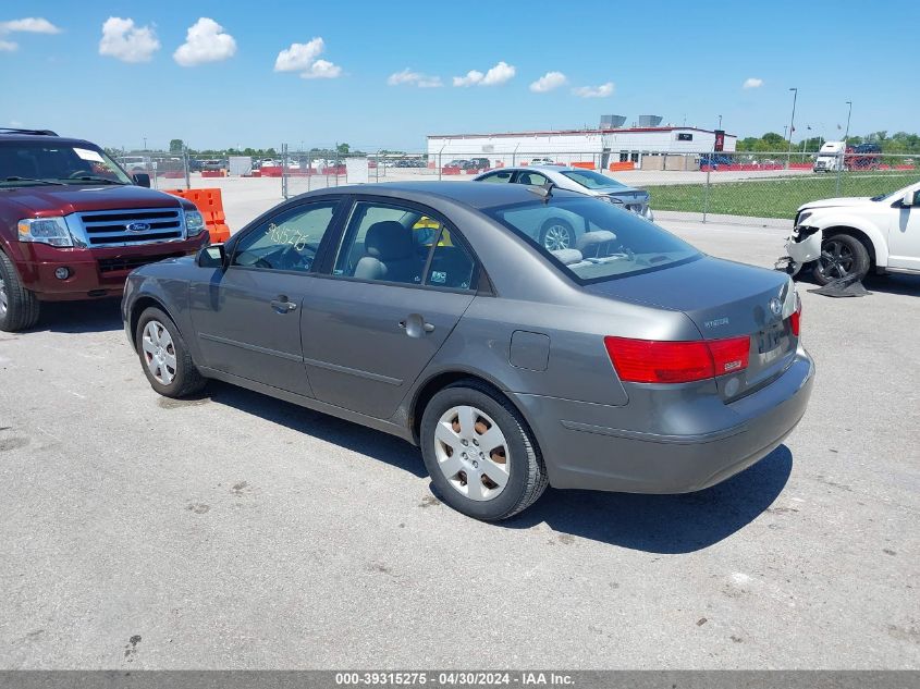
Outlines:
[[[441,417],[457,406],[480,409],[494,420],[504,435],[507,482],[493,499],[476,501],[462,494],[439,465],[436,430]],[[527,422],[501,393],[480,381],[458,381],[431,398],[421,417],[420,442],[425,466],[441,500],[475,519],[507,519],[533,504],[547,489],[547,467]]]

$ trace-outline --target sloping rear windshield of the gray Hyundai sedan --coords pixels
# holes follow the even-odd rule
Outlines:
[[[581,283],[660,270],[702,256],[645,218],[590,197],[550,197],[548,202],[536,198],[483,212]],[[561,246],[560,237],[566,246]]]

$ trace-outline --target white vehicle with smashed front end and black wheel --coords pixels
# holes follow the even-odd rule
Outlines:
[[[872,198],[829,198],[796,213],[787,257],[777,268],[795,275],[811,264],[825,285],[876,273],[920,274],[920,183]]]

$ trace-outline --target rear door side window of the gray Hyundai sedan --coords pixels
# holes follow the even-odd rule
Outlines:
[[[432,214],[397,204],[355,205],[333,274],[379,282],[469,290],[475,261]]]

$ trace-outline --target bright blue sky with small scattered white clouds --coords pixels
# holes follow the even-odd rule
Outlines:
[[[721,114],[729,133],[759,136],[783,133],[796,86],[795,138],[833,138],[846,100],[852,133],[913,132],[916,4],[882,4],[4,0],[0,126],[128,148],[177,137],[421,150],[426,134],[596,125],[602,113],[712,128]],[[27,17],[50,26],[16,23]],[[109,17],[133,24],[111,22],[100,54]],[[550,72],[564,78],[531,90]]]

